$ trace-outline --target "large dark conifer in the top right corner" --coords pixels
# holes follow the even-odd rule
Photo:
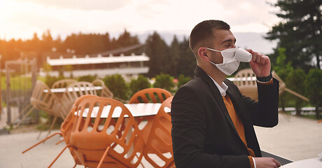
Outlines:
[[[278,0],[274,6],[281,9],[276,15],[283,21],[274,25],[265,38],[279,39],[276,48],[286,48],[286,61],[291,61],[294,67],[307,71],[311,66],[321,69],[322,1]]]

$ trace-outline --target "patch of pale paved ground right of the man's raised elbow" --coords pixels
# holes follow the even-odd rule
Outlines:
[[[322,123],[296,116],[279,115],[273,128],[255,127],[263,151],[293,161],[318,158],[322,153]]]

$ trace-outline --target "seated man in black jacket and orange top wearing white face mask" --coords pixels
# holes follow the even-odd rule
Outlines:
[[[239,66],[230,54],[236,49],[236,38],[227,23],[200,22],[189,42],[197,59],[195,77],[172,101],[176,167],[280,167],[273,158],[261,158],[253,129],[253,125],[274,127],[278,123],[279,82],[272,78],[269,57],[247,50],[258,79],[255,102],[225,79]]]

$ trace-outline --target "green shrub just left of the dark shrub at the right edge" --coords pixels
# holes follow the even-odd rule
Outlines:
[[[305,81],[307,80],[307,76],[302,69],[295,69],[291,71],[286,77],[286,85],[290,90],[294,90],[299,94],[304,94],[305,92]],[[294,97],[295,100],[295,110],[296,115],[300,116],[301,108],[304,104],[304,100],[300,97]]]

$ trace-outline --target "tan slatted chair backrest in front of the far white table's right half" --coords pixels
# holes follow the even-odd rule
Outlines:
[[[71,83],[66,87],[66,91],[62,95],[62,113],[66,117],[73,103],[83,95],[97,95],[94,85],[89,82]]]

